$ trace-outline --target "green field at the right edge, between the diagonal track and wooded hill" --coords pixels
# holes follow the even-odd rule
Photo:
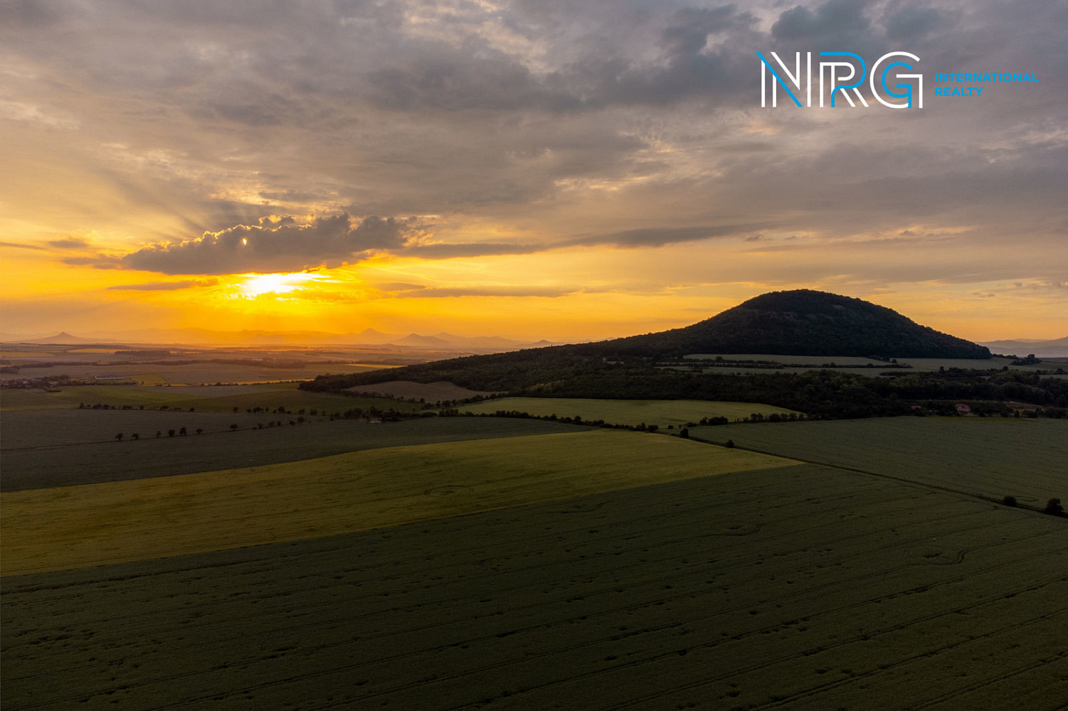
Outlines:
[[[977,495],[1068,502],[1068,421],[883,417],[697,427],[691,437]]]

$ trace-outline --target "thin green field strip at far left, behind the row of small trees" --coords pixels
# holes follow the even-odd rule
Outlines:
[[[42,390],[5,390],[0,395],[0,410],[47,410],[51,408],[76,408],[79,404],[94,404],[122,407],[144,406],[188,410],[195,408],[206,412],[231,412],[233,408],[268,408],[274,410],[318,409],[328,412],[344,412],[350,408],[390,409],[414,412],[422,406],[388,398],[350,397],[334,393],[312,393],[297,389],[297,383],[260,383],[252,385],[75,385],[63,388],[58,393]]]

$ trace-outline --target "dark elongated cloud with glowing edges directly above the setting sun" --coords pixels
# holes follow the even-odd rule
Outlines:
[[[146,247],[122,257],[130,269],[166,274],[233,274],[301,271],[339,266],[357,254],[402,247],[414,225],[397,218],[364,218],[356,226],[347,214],[297,224],[292,218],[264,219],[194,239]]]

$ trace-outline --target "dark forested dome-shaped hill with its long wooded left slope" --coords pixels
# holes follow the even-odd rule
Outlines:
[[[615,370],[614,394],[603,396],[625,397],[625,381],[637,386],[638,380],[650,377],[658,361],[689,353],[990,358],[983,346],[920,326],[890,309],[834,294],[797,290],[765,294],[700,323],[661,333],[320,376],[301,388],[337,391],[387,380],[445,380],[473,390],[518,392],[535,385],[574,384],[593,374]],[[976,367],[983,367],[981,362]]]

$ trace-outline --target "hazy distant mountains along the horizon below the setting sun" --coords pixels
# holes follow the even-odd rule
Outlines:
[[[83,344],[183,344],[203,346],[399,346],[412,349],[446,351],[503,351],[518,348],[538,348],[552,345],[548,341],[530,343],[500,336],[459,336],[452,333],[420,335],[409,333],[382,333],[364,329],[359,333],[328,333],[325,331],[214,331],[208,329],[141,329],[137,331],[88,331],[74,335],[66,331],[56,335],[0,333],[6,343],[41,345]]]

